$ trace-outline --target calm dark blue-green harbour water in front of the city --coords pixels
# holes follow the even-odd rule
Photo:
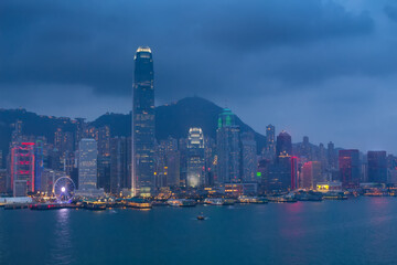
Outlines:
[[[196,216],[203,212],[205,221]],[[397,198],[0,209],[0,264],[396,264]]]

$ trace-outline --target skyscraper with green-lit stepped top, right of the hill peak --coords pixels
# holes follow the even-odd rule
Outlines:
[[[217,146],[217,182],[240,182],[240,145],[239,127],[236,116],[230,109],[225,108],[218,117],[216,130]]]

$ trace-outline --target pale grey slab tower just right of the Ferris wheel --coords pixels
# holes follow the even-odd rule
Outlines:
[[[78,190],[97,189],[97,142],[83,138],[78,145]]]

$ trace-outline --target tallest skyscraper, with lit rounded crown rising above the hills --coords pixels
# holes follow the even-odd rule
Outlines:
[[[152,52],[135,55],[132,85],[132,194],[150,195],[154,188],[154,73]]]

